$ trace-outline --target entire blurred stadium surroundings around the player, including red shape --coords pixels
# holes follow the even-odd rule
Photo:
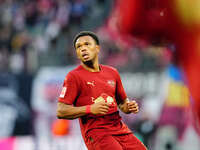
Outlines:
[[[199,150],[199,0],[0,0],[0,150],[86,149],[77,120],[56,119],[81,30],[137,99],[122,116],[149,150]]]

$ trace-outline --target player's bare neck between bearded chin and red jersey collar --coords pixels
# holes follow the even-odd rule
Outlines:
[[[99,66],[99,62],[95,61],[89,61],[89,62],[85,62],[85,63],[81,63],[81,65],[83,66],[83,68],[85,68],[86,70],[90,71],[90,72],[99,72],[100,71],[100,66]]]

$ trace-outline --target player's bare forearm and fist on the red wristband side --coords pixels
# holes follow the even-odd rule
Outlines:
[[[86,111],[87,106],[75,107],[72,105],[67,105],[62,102],[57,104],[57,117],[59,119],[76,119],[87,115]],[[89,106],[90,113],[97,114],[106,114],[108,112],[109,106],[105,102],[98,102]]]

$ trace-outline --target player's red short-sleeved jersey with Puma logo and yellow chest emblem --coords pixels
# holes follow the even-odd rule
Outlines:
[[[99,72],[90,72],[81,65],[68,73],[64,80],[59,102],[74,105],[91,105],[104,100],[109,103],[106,115],[85,115],[79,119],[83,138],[91,134],[131,133],[121,121],[117,104],[127,98],[116,69],[100,65]]]

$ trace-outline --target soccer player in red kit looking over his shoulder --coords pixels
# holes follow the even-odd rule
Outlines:
[[[137,113],[138,104],[129,101],[117,70],[99,64],[99,39],[90,31],[74,38],[81,64],[65,77],[58,99],[59,119],[79,118],[88,150],[146,150],[121,121],[119,109]]]

